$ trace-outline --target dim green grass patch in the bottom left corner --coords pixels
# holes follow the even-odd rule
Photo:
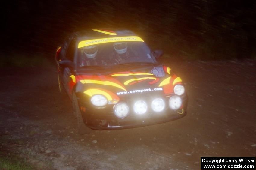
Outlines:
[[[25,160],[15,156],[0,155],[0,169],[2,170],[32,170],[35,169]]]

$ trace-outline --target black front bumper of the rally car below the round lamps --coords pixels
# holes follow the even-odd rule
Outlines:
[[[118,118],[112,112],[113,106],[106,109],[86,109],[86,112],[81,112],[83,121],[86,126],[96,130],[115,130],[142,127],[153,124],[173,121],[182,118],[186,115],[187,96],[182,97],[182,109],[177,111],[167,107],[163,112],[156,113],[152,111],[146,112],[144,115],[129,114],[125,118]]]

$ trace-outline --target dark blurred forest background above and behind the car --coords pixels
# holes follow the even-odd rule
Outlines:
[[[130,29],[181,60],[256,58],[255,1],[14,0],[1,8],[2,65],[53,58],[67,34],[91,28]]]

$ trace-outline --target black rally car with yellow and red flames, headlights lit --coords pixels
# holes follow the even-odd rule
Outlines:
[[[140,127],[181,118],[187,95],[180,77],[129,30],[70,34],[56,51],[59,90],[73,103],[80,133]]]

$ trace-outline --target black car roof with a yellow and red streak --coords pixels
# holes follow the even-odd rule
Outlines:
[[[73,33],[79,40],[92,40],[98,38],[108,37],[125,37],[125,36],[136,36],[133,31],[130,30],[111,30],[111,29],[91,29],[77,31]]]

